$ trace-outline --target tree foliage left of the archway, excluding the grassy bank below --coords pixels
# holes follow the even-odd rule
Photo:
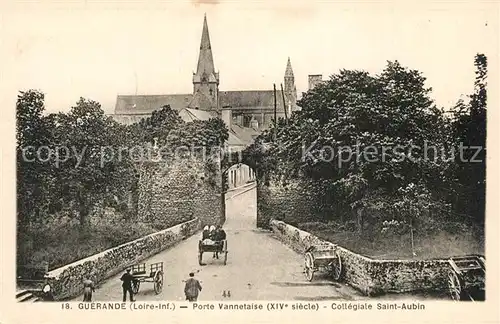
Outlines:
[[[17,200],[21,223],[38,222],[72,206],[85,230],[93,208],[103,202],[130,216],[127,202],[131,194],[137,195],[141,163],[137,154],[142,154],[137,148],[155,140],[170,148],[212,148],[228,138],[222,120],[185,123],[169,106],[128,126],[106,116],[99,103],[84,98],[68,113],[44,116],[43,112],[43,93],[20,93]],[[37,155],[38,151],[42,154]],[[208,172],[215,174],[212,164]]]

